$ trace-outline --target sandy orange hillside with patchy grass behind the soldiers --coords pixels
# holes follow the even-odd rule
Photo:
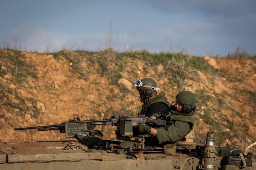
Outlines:
[[[0,142],[65,139],[58,131],[18,127],[137,115],[137,77],[155,79],[170,102],[182,90],[196,94],[196,142],[204,144],[206,131],[216,132],[217,145],[243,149],[256,141],[255,57],[2,49],[0,64]],[[107,127],[104,138],[115,139],[114,130]]]

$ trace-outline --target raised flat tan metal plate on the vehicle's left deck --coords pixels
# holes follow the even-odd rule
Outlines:
[[[79,143],[77,143],[80,146]],[[8,163],[50,162],[50,161],[83,161],[100,160],[100,152],[95,150],[60,150],[67,146],[63,142],[42,143],[8,143],[0,144],[0,151],[8,155]],[[87,149],[87,147],[86,147]]]

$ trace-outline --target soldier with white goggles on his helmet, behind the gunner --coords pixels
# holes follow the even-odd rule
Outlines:
[[[141,111],[139,115],[151,116],[153,113],[164,112],[169,107],[170,104],[166,97],[165,93],[160,92],[156,82],[152,78],[137,78],[133,84],[140,95],[140,101],[143,102]]]

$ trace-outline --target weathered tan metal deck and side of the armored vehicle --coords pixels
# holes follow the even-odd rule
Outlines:
[[[73,142],[84,150],[61,150],[70,143],[66,142],[33,142],[33,143],[0,143],[0,170],[92,170],[92,169],[168,169],[198,170],[200,158],[189,154],[144,153],[143,160],[136,160],[129,154],[108,153],[101,150],[87,150],[84,145]],[[2,153],[2,154],[1,154]],[[7,157],[6,157],[7,155]],[[3,157],[1,157],[3,156]],[[222,157],[216,157],[215,166],[221,166]],[[7,163],[6,163],[7,160]],[[222,166],[224,170],[237,169],[237,166]],[[238,168],[239,169],[239,168]],[[237,169],[237,170],[238,170]],[[252,167],[243,170],[256,169]]]

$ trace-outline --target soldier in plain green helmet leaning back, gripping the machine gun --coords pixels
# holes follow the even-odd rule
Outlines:
[[[174,102],[175,105],[172,105],[167,112],[151,115],[151,118],[154,119],[164,117],[166,120],[165,127],[153,128],[145,124],[138,125],[139,132],[144,133],[145,146],[172,148],[193,129],[196,109],[195,95],[189,91],[182,91],[177,94]],[[136,148],[139,145],[130,141],[125,144],[119,146],[121,148]]]

